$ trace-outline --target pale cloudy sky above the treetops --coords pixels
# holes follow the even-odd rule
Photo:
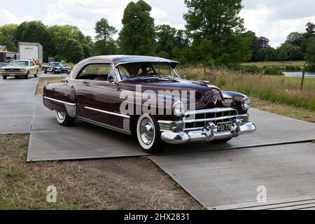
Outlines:
[[[41,20],[46,25],[71,24],[84,34],[94,36],[94,24],[107,18],[111,25],[121,29],[121,19],[131,0],[0,0],[0,25]],[[153,8],[155,24],[185,27],[183,0],[146,0]],[[307,22],[315,22],[314,0],[243,0],[241,17],[245,27],[257,36],[266,36],[276,47],[292,31],[304,31]]]

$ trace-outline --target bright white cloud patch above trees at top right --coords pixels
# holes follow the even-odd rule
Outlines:
[[[307,22],[315,22],[315,1],[244,1],[241,17],[247,30],[269,38],[272,47],[286,41],[293,31],[304,32]],[[313,7],[314,6],[314,7]],[[310,10],[311,8],[311,10]]]

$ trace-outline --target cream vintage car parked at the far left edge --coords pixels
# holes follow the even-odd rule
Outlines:
[[[0,68],[0,76],[6,79],[8,76],[24,77],[29,76],[37,77],[39,73],[39,66],[30,60],[13,60],[8,66]]]

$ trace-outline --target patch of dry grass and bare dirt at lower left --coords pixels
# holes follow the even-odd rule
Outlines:
[[[0,209],[203,209],[148,158],[26,163],[28,140],[0,135]]]

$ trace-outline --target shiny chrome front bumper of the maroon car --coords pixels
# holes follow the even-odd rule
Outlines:
[[[253,123],[242,123],[236,120],[233,123],[232,131],[218,132],[218,127],[214,123],[209,123],[207,127],[200,130],[183,132],[162,132],[161,139],[168,144],[185,144],[188,142],[215,141],[239,137],[241,134],[255,132],[256,125]]]

